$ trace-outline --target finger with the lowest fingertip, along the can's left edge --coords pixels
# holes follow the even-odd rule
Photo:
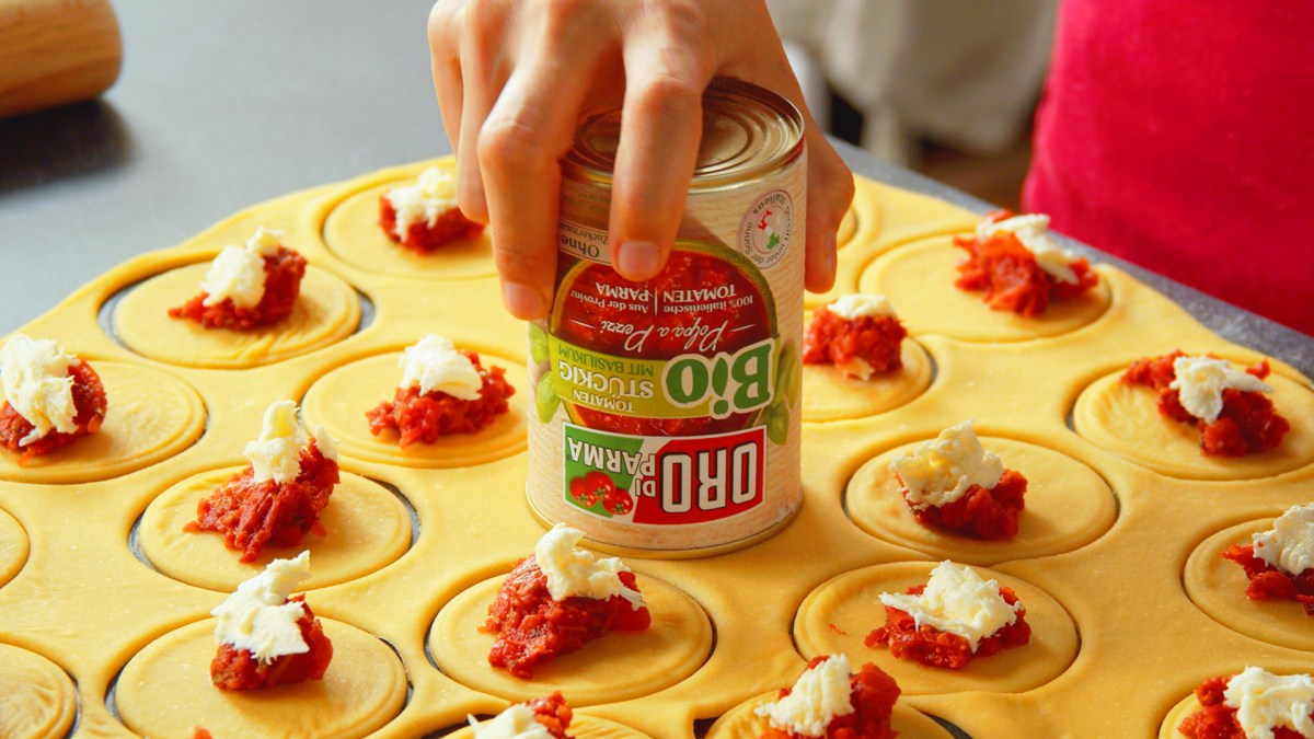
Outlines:
[[[551,308],[558,159],[574,142],[577,112],[606,49],[591,8],[544,20],[477,134],[503,302],[518,318],[540,318]]]

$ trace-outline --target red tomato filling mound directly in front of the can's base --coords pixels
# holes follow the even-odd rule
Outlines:
[[[622,572],[620,583],[639,592],[633,572]],[[531,555],[498,589],[481,631],[497,635],[489,664],[528,680],[539,664],[574,652],[608,631],[645,631],[650,625],[646,608],[635,610],[620,596],[552,600],[548,576]]]

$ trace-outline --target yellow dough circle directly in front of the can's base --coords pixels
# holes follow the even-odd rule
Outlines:
[[[639,575],[652,613],[646,631],[612,631],[539,665],[532,680],[512,677],[489,664],[493,635],[480,631],[505,579],[485,580],[452,598],[428,634],[438,668],[476,690],[512,702],[561,690],[574,707],[628,701],[689,677],[712,651],[712,626],[703,609],[671,585]]]

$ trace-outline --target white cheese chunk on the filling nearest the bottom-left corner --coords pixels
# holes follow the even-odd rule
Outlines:
[[[296,559],[271,561],[264,572],[238,585],[237,592],[210,611],[219,618],[214,640],[246,650],[263,663],[310,651],[297,626],[305,608],[288,602],[288,596],[309,576],[309,551]]]

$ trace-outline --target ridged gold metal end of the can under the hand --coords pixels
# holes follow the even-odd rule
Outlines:
[[[620,142],[620,109],[586,114],[562,175],[610,187]],[[692,191],[758,180],[803,151],[803,116],[792,103],[754,84],[717,78],[703,92],[703,135]]]

